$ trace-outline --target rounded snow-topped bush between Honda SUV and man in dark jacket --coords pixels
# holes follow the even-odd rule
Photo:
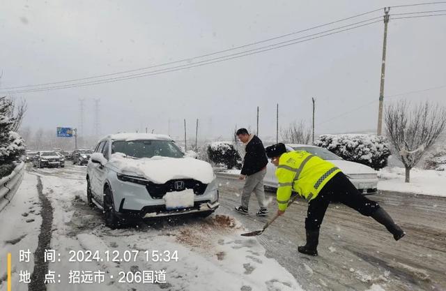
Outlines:
[[[231,142],[213,142],[207,146],[208,158],[217,167],[242,168],[242,158]]]

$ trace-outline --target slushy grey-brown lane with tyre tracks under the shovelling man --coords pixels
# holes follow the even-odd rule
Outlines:
[[[226,213],[240,203],[242,186],[236,179],[220,178]],[[274,211],[275,193],[268,194]],[[305,241],[307,202],[298,200],[258,239],[266,255],[290,271],[305,290],[368,290],[372,284],[387,291],[446,290],[445,197],[394,192],[369,197],[406,230],[406,237],[394,241],[373,219],[342,204],[331,204],[321,227],[319,256],[301,255],[297,245]],[[255,230],[266,219],[254,216],[255,195],[251,202],[250,215],[238,216],[238,220]]]

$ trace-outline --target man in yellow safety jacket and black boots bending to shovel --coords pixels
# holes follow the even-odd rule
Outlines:
[[[307,244],[298,247],[300,253],[318,255],[319,229],[328,204],[333,201],[346,204],[364,216],[371,216],[384,225],[395,240],[406,234],[377,202],[357,191],[346,175],[332,163],[307,151],[286,152],[282,143],[267,147],[266,155],[277,166],[277,214],[284,214],[293,191],[309,201],[305,218]]]

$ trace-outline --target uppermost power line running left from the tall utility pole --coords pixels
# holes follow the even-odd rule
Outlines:
[[[52,84],[62,84],[62,83],[67,83],[67,82],[75,82],[75,81],[96,79],[98,77],[109,77],[109,76],[112,76],[112,75],[120,75],[120,74],[124,74],[124,73],[132,73],[132,72],[136,72],[136,71],[139,71],[139,70],[147,70],[149,68],[157,68],[157,67],[160,67],[160,66],[168,66],[168,65],[177,64],[177,63],[180,63],[180,62],[183,62],[183,61],[189,61],[190,59],[201,59],[203,57],[210,57],[210,56],[213,56],[215,54],[221,54],[223,52],[229,52],[229,51],[233,51],[233,50],[238,50],[240,48],[249,47],[249,46],[252,46],[252,45],[258,45],[260,43],[266,43],[268,41],[277,40],[279,38],[285,38],[287,36],[292,36],[294,34],[302,33],[302,32],[305,32],[305,31],[310,31],[312,29],[318,29],[318,28],[321,28],[321,27],[326,27],[326,26],[328,26],[330,24],[343,22],[345,20],[351,20],[353,18],[361,17],[361,16],[364,16],[364,15],[367,15],[367,14],[370,14],[370,13],[374,13],[374,12],[377,12],[377,11],[382,10],[382,9],[383,8],[378,8],[378,9],[375,9],[375,10],[367,11],[365,13],[360,13],[360,14],[357,14],[357,15],[353,15],[351,17],[346,17],[346,18],[343,18],[341,20],[334,20],[332,22],[328,22],[328,23],[325,23],[325,24],[320,24],[320,25],[317,25],[315,27],[309,27],[308,29],[302,29],[300,31],[293,31],[291,33],[286,33],[286,34],[281,35],[281,36],[275,36],[273,38],[268,38],[266,40],[259,40],[259,41],[256,41],[254,43],[248,43],[246,45],[240,45],[238,47],[231,47],[231,48],[226,49],[226,50],[220,50],[220,51],[217,51],[217,52],[211,52],[209,54],[202,54],[202,55],[200,55],[198,57],[192,57],[192,58],[187,58],[187,59],[180,59],[178,61],[171,61],[171,62],[164,63],[164,64],[157,64],[157,65],[153,65],[153,66],[148,66],[148,67],[144,67],[144,68],[136,68],[136,69],[132,69],[132,70],[123,70],[123,71],[120,71],[120,72],[109,73],[109,74],[104,74],[104,75],[95,75],[95,76],[91,76],[91,77],[82,77],[82,78],[77,78],[77,79],[64,80],[64,81],[59,81],[59,82],[49,82],[49,83],[43,83],[43,84],[24,85],[24,86],[17,86],[17,87],[6,87],[6,88],[3,88],[3,89],[5,89],[5,90],[6,89],[20,89],[20,88],[47,86],[47,85],[52,85]]]

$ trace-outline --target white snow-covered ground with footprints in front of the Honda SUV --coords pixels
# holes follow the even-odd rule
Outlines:
[[[110,230],[102,222],[101,211],[90,209],[86,204],[84,170],[85,167],[70,167],[63,174],[58,169],[38,170],[44,174],[40,176],[43,194],[53,208],[51,248],[60,254],[60,257],[56,255],[55,262],[49,262],[49,271],[55,271],[56,283],[47,285],[47,290],[302,290],[289,271],[275,259],[266,258],[266,251],[256,238],[240,236],[245,230],[231,216],[213,215],[161,225],[141,223],[137,227]],[[26,174],[14,202],[0,213],[0,221],[14,217],[17,221],[21,213],[34,218],[34,212],[40,211],[33,204],[38,202],[36,183],[36,176]],[[2,227],[0,241],[6,243],[0,260],[5,261],[6,252],[13,253],[13,290],[20,291],[28,290],[28,285],[18,283],[17,273],[24,269],[32,272],[33,260],[29,264],[17,264],[18,252],[22,248],[31,248],[31,253],[35,251],[40,220],[36,216],[32,223],[17,223],[19,227],[13,223]],[[22,239],[15,244],[11,242],[17,238]],[[98,251],[100,260],[69,262],[70,251]],[[118,261],[110,261],[114,255],[107,260],[107,251],[119,252]],[[137,256],[130,262],[121,262],[125,251]],[[146,251],[149,251],[149,260],[146,260]],[[172,257],[177,253],[178,260],[155,262],[153,251],[164,255],[164,260],[167,251]],[[69,284],[70,271],[103,271],[105,279],[101,284]],[[131,281],[143,271],[145,274],[165,271],[165,280],[160,275],[158,283],[120,283],[120,272],[126,274],[123,281]],[[6,271],[0,276],[3,291]],[[89,276],[80,276],[80,280],[88,279]]]

